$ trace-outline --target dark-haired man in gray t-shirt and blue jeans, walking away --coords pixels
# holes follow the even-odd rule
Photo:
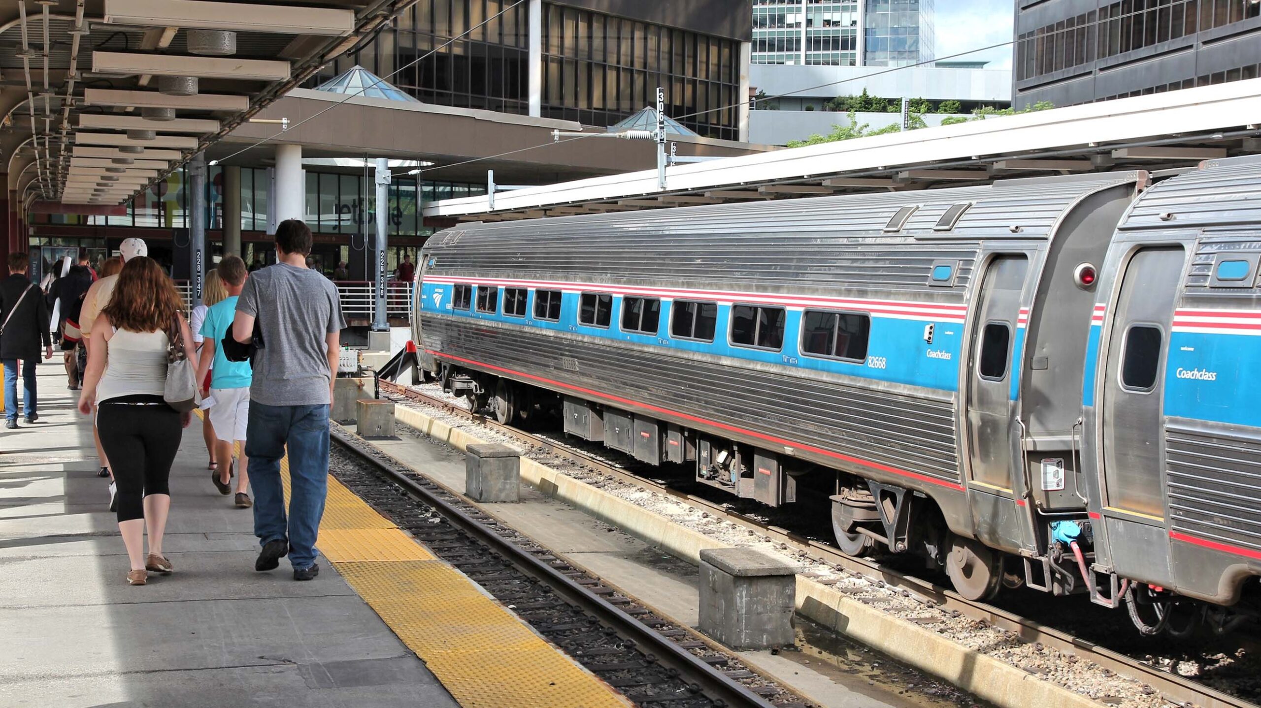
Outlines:
[[[299,219],[276,227],[276,265],[255,271],[237,300],[232,338],[260,334],[250,385],[246,456],[253,486],[256,571],[289,556],[294,580],[319,573],[315,539],[328,496],[328,412],[346,326],[337,288],[306,268],[311,232]],[[291,494],[285,514],[280,461],[289,455]]]

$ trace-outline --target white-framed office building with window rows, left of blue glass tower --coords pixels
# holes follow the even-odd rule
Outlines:
[[[754,0],[754,64],[859,63],[857,0]]]

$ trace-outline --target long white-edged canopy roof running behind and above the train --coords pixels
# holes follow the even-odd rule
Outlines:
[[[491,222],[1122,169],[1159,176],[1261,152],[1258,125],[1261,78],[675,164],[666,189],[657,170],[643,170],[446,199],[426,205],[425,215]]]

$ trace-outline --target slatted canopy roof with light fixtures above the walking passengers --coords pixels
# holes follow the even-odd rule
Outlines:
[[[0,171],[25,208],[122,204],[414,4],[0,1]]]

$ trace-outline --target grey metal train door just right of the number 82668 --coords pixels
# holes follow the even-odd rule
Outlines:
[[[968,501],[976,535],[987,545],[1016,549],[1024,533],[1011,491],[1013,377],[1025,256],[996,256],[985,270],[968,346],[966,435]]]

